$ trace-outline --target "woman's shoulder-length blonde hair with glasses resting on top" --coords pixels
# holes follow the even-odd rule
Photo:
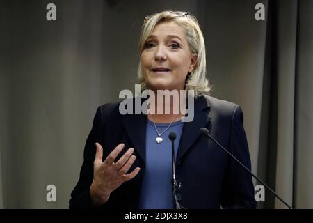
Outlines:
[[[161,13],[145,17],[143,26],[141,26],[141,36],[139,38],[140,54],[145,49],[145,42],[153,32],[155,26],[163,22],[175,22],[177,25],[182,27],[191,50],[191,54],[198,54],[195,68],[186,79],[187,95],[189,90],[194,91],[195,97],[202,94],[209,94],[211,86],[206,77],[207,70],[204,38],[197,19],[190,13],[162,11]],[[141,71],[141,61],[138,65],[137,75],[138,82],[141,84],[141,90],[143,91],[147,89],[147,84],[145,83],[145,78],[143,77],[143,73]]]

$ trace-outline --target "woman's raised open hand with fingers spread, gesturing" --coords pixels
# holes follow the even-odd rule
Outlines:
[[[111,192],[128,180],[134,178],[140,171],[136,167],[134,171],[126,174],[136,160],[134,148],[129,148],[118,162],[114,162],[118,154],[124,148],[124,144],[119,144],[102,162],[103,149],[99,143],[96,143],[97,152],[93,162],[93,183],[90,186],[90,196],[94,205],[100,205],[109,200]]]

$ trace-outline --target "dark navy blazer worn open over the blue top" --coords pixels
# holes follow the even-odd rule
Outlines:
[[[70,199],[70,208],[93,208],[89,187],[93,181],[95,142],[104,148],[103,160],[120,143],[124,151],[133,147],[137,159],[131,167],[141,167],[139,174],[111,193],[100,208],[138,208],[143,173],[145,171],[144,114],[122,115],[119,102],[98,107],[83,153],[79,181]],[[250,155],[243,129],[241,107],[232,102],[202,95],[195,100],[192,122],[184,123],[177,151],[176,178],[179,203],[186,208],[255,208],[252,178],[211,139],[200,135],[205,127],[220,144],[249,169]]]

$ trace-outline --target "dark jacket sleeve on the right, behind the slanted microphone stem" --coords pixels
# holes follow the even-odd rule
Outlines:
[[[230,131],[230,144],[228,146],[230,153],[248,169],[251,169],[248,142],[246,132],[243,129],[243,113],[239,105],[234,108]],[[252,176],[232,157],[229,157],[223,180],[222,207],[224,209],[256,208],[257,203],[254,197]]]

